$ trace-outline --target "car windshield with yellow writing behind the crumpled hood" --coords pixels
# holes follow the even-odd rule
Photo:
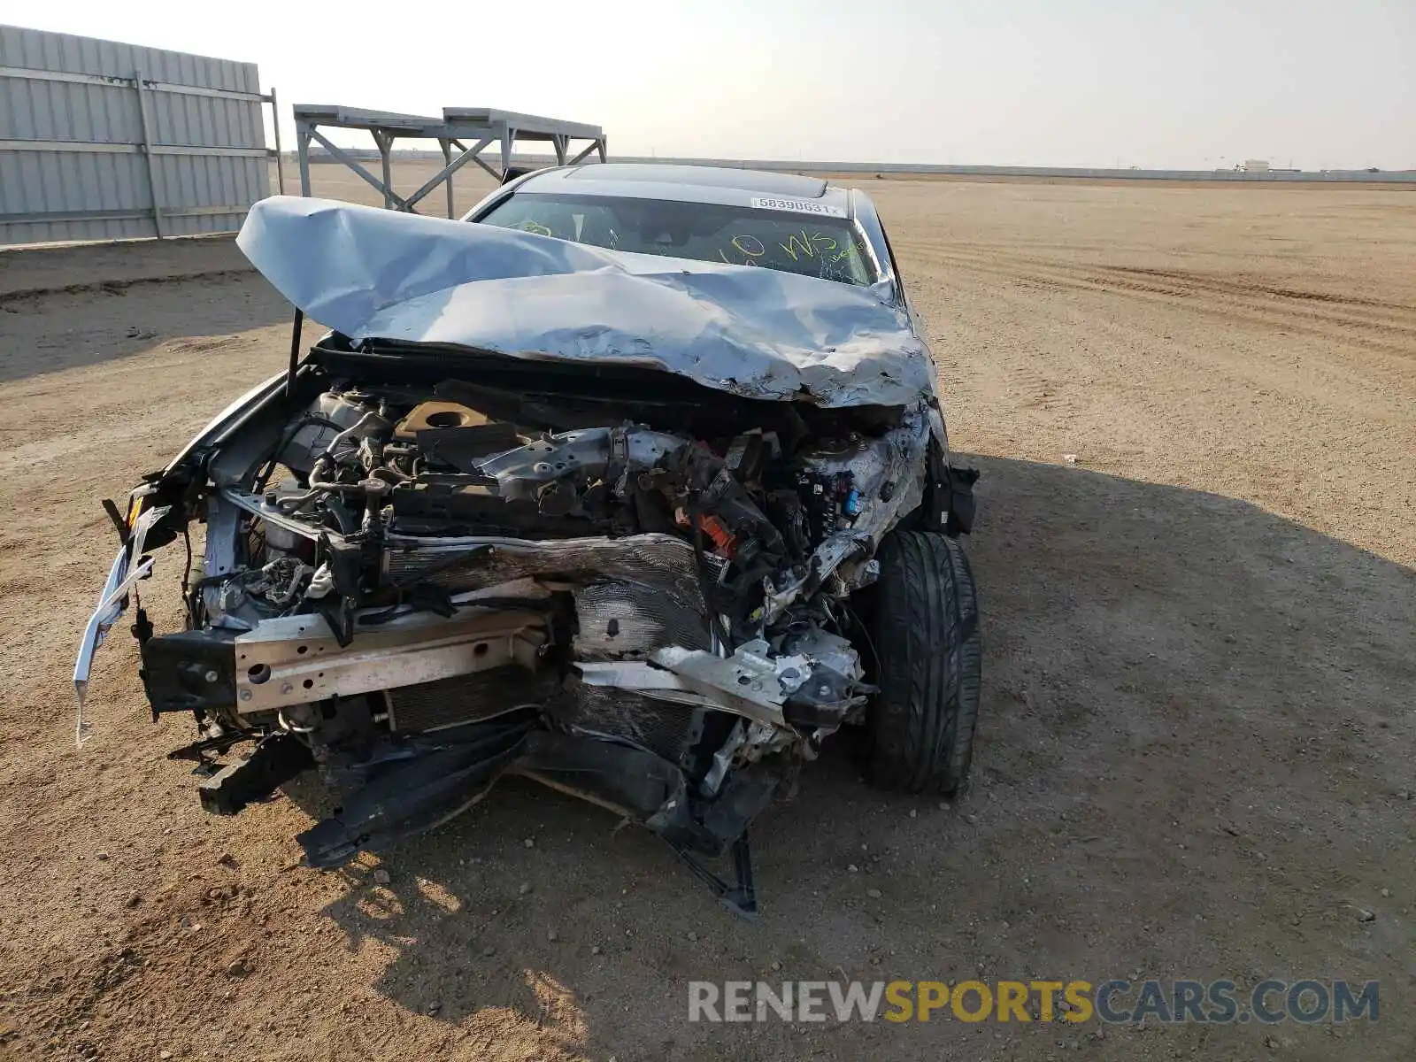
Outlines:
[[[479,221],[610,251],[766,266],[848,285],[877,279],[848,218],[715,202],[521,193]]]

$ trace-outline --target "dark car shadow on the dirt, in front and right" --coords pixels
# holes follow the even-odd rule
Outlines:
[[[506,783],[340,871],[354,888],[324,913],[351,952],[389,956],[372,988],[435,1015],[450,1044],[510,1011],[542,1055],[624,1062],[1136,1046],[1126,1029],[1093,1039],[1095,1022],[690,1024],[690,980],[1405,981],[1396,901],[1376,889],[1416,884],[1402,796],[1416,572],[1216,494],[977,463],[984,707],[966,793],[874,792],[830,746],[753,828],[749,923],[646,831]],[[1410,1024],[1386,1018],[1347,1054],[1376,1058]],[[1259,1051],[1267,1029],[1163,1032],[1209,1054]],[[1332,1049],[1324,1035],[1283,1032],[1313,1058]]]

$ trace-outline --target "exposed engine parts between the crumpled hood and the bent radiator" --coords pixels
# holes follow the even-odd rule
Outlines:
[[[319,394],[238,498],[253,510],[245,531],[261,541],[246,542],[219,612],[241,595],[265,615],[327,596],[334,562],[317,558],[321,539],[357,542],[364,559],[459,538],[654,534],[692,544],[718,633],[735,644],[833,572],[838,590],[868,582],[878,510],[920,501],[910,474],[926,442],[918,416],[878,435],[809,442],[762,428],[695,438],[627,419],[547,430],[473,408],[486,398],[473,391],[445,382],[429,395],[350,385]],[[818,555],[827,542],[837,556]],[[360,575],[357,605],[394,603],[411,589],[388,571]]]

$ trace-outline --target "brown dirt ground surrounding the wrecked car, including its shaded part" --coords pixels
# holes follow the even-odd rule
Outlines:
[[[828,755],[755,828],[755,925],[530,784],[304,869],[310,794],[205,816],[120,629],[75,750],[98,503],[282,368],[289,307],[221,241],[0,255],[0,1058],[1410,1059],[1416,195],[869,191],[983,469],[973,784]],[[1378,978],[1381,1017],[687,1021],[756,977]]]

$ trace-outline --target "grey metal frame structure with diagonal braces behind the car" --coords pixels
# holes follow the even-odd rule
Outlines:
[[[330,143],[320,126],[334,129],[361,129],[374,137],[381,161],[381,176],[375,177],[364,169],[348,150]],[[467,163],[477,163],[498,183],[506,180],[511,166],[511,152],[518,142],[549,143],[559,166],[582,163],[592,154],[606,161],[605,130],[582,122],[565,122],[556,118],[520,115],[514,110],[493,110],[490,108],[443,108],[443,116],[399,115],[389,110],[361,110],[323,103],[295,105],[296,154],[300,163],[300,194],[310,194],[310,142],[320,144],[333,159],[344,163],[382,197],[384,207],[416,212],[413,208],[439,184],[446,187],[447,217],[453,217],[452,178]],[[412,195],[394,191],[392,149],[398,139],[436,140],[443,154],[443,169],[423,181]],[[573,157],[572,140],[588,140]],[[467,144],[472,144],[470,147]],[[494,169],[481,153],[491,146],[500,152],[500,169]],[[459,154],[453,156],[453,147]]]

